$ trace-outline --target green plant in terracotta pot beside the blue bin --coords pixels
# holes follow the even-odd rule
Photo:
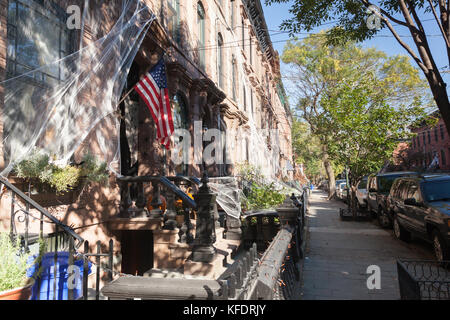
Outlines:
[[[20,240],[14,244],[9,235],[0,233],[0,300],[28,300],[34,278],[27,277],[31,256],[20,249]]]

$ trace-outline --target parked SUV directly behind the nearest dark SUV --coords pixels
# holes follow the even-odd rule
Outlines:
[[[382,228],[390,228],[392,220],[389,217],[389,209],[386,203],[395,179],[405,176],[417,176],[413,171],[397,171],[370,175],[367,180],[367,209],[373,217],[378,219]]]

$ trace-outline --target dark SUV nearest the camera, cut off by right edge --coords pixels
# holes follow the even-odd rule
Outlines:
[[[450,175],[403,177],[389,194],[394,235],[433,243],[438,261],[450,260]]]

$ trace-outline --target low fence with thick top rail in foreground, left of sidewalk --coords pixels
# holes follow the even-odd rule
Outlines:
[[[262,254],[254,234],[249,250],[238,253],[234,263],[217,280],[201,278],[121,277],[107,284],[103,295],[111,299],[211,299],[272,300],[296,299],[299,294],[302,216],[307,210],[307,195],[297,200],[298,216],[277,232]],[[292,198],[291,198],[292,199]],[[294,202],[295,203],[295,202]],[[271,215],[275,217],[275,215]],[[253,217],[262,221],[263,215]],[[250,217],[251,219],[252,217]],[[258,223],[257,223],[258,224]],[[262,223],[260,224],[260,226]],[[275,224],[272,225],[275,229]],[[249,241],[251,239],[248,239]],[[266,245],[264,243],[264,245]],[[245,246],[244,246],[245,247]]]

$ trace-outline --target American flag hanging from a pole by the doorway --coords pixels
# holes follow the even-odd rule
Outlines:
[[[169,149],[174,126],[164,60],[159,60],[134,88],[150,109],[156,123],[158,141]]]

